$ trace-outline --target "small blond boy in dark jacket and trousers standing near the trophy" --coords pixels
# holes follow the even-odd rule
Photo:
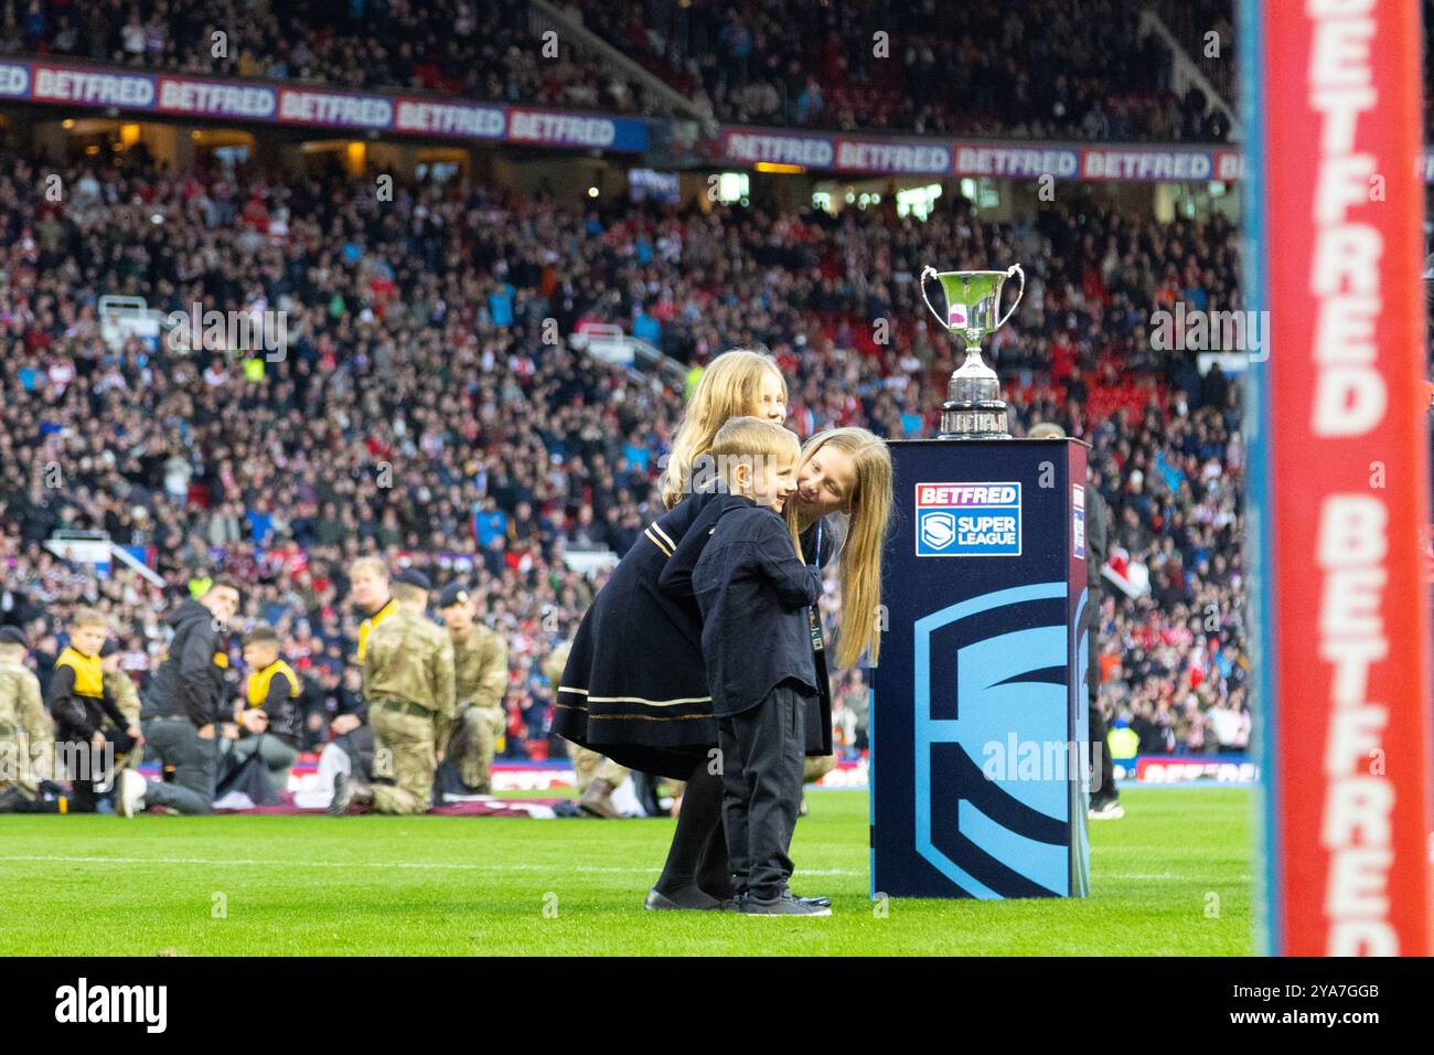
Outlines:
[[[807,607],[822,593],[820,571],[803,563],[782,518],[796,491],[800,445],[779,425],[733,418],[717,432],[713,455],[727,494],[691,574],[736,907],[751,916],[830,916],[787,887],[806,709],[817,690]]]

